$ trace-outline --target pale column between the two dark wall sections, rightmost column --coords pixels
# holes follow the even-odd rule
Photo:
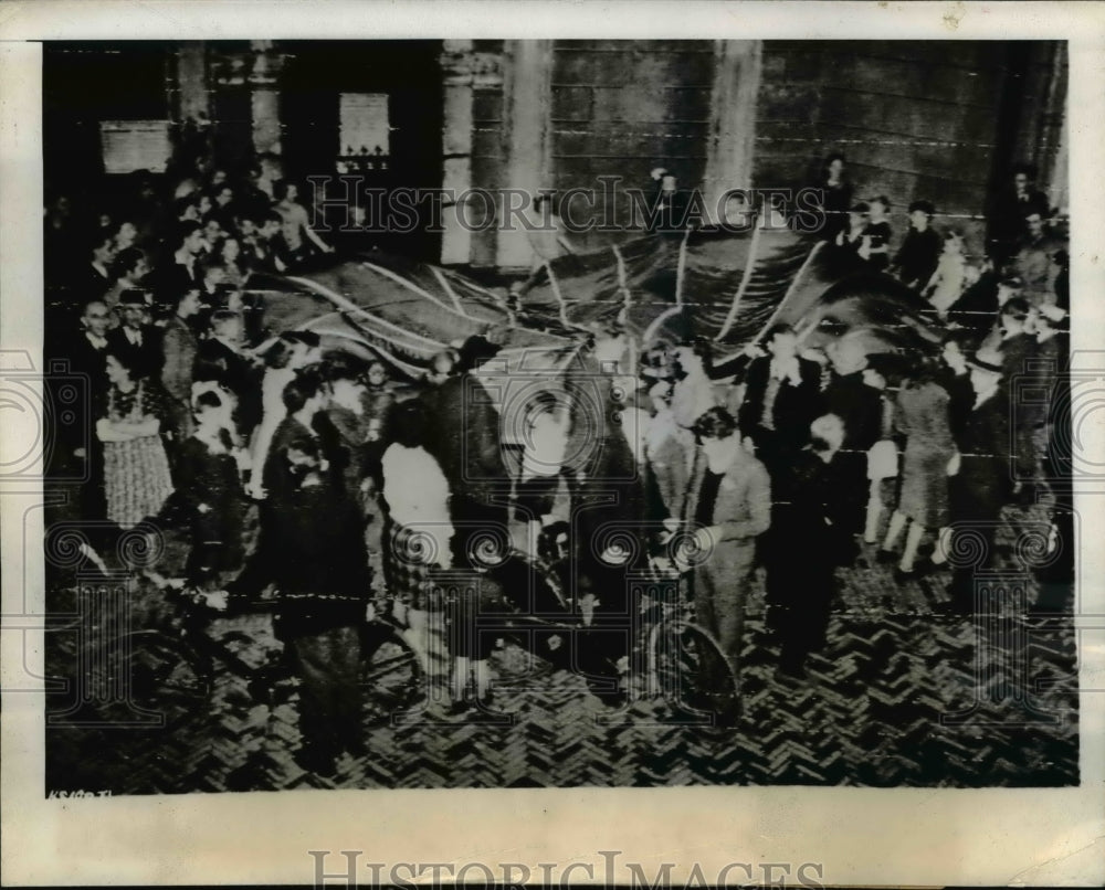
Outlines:
[[[711,216],[727,189],[747,189],[753,184],[762,53],[764,44],[758,40],[714,42],[714,88],[703,183]]]

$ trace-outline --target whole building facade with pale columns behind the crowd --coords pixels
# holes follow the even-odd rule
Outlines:
[[[393,146],[393,161],[411,167],[404,182],[457,191],[594,189],[592,214],[617,224],[630,222],[624,190],[654,188],[653,168],[666,168],[680,188],[706,194],[749,184],[800,187],[814,181],[834,150],[848,156],[859,194],[885,193],[897,213],[928,198],[969,225],[983,211],[988,191],[1022,159],[1040,166],[1040,186],[1053,203],[1065,203],[1065,183],[1050,181],[1065,170],[1062,43],[540,43],[535,50],[520,41],[445,41],[417,60],[401,46],[393,56],[378,59],[378,52],[364,63],[359,49],[347,46],[343,64],[319,55],[306,67],[316,80],[325,75],[330,93],[379,81],[379,89],[393,94],[396,141],[402,142]],[[53,168],[77,178],[94,172],[96,121],[148,117],[154,113],[146,106],[176,120],[207,114],[224,165],[257,151],[288,162],[302,156],[298,167],[329,163],[328,156],[294,150],[325,140],[307,126],[311,120],[297,123],[288,114],[290,94],[306,87],[301,76],[292,89],[282,71],[318,45],[173,43],[136,47],[131,61],[102,46],[66,49],[48,52],[46,153],[48,161],[57,159]],[[147,62],[152,73],[138,77]],[[127,89],[108,88],[124,63],[136,76],[120,81]],[[159,81],[155,75],[162,70]],[[82,105],[78,87],[88,72],[99,72],[105,87]],[[421,92],[404,92],[411,81]],[[411,135],[407,141],[404,134]],[[600,183],[606,177],[618,181],[613,212]],[[485,210],[473,204],[470,219],[478,222]],[[501,204],[495,212],[502,216]],[[593,247],[609,237],[592,233],[577,242]],[[451,232],[438,255],[427,258],[517,267],[525,265],[525,247],[488,226]]]

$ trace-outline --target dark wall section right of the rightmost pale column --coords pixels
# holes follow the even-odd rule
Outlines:
[[[839,150],[859,197],[898,211],[929,199],[969,225],[1012,162],[1053,167],[1057,128],[1041,138],[1034,121],[1062,74],[1059,45],[766,41],[755,181],[808,183]]]

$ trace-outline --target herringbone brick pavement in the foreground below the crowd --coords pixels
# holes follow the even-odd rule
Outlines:
[[[1007,551],[1011,533],[1006,528],[999,537]],[[581,677],[507,646],[493,658],[494,712],[448,717],[448,666],[435,658],[429,688],[436,698],[393,724],[366,725],[367,755],[344,755],[337,774],[323,778],[292,759],[299,743],[295,695],[269,707],[244,678],[222,670],[210,707],[171,731],[48,729],[46,790],[1076,784],[1071,622],[1035,627],[1025,643],[1009,635],[1020,626],[1012,622],[935,614],[947,572],[898,586],[890,568],[864,555],[869,565],[841,572],[828,646],[797,685],[776,679],[778,650],[764,627],[756,579],[743,713],[733,729],[680,722],[663,699],[633,682],[628,704],[608,709]],[[1002,610],[1011,617],[1011,605]],[[235,648],[251,664],[278,649],[267,616],[221,618],[211,627],[215,636],[231,631],[248,639]],[[54,663],[73,658],[73,642],[56,637],[48,640]]]

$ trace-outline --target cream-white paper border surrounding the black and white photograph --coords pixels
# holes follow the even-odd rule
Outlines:
[[[1073,239],[1072,352],[1105,360],[1105,4],[768,2],[6,2],[0,6],[0,372],[41,361],[42,40],[594,38],[1065,40]],[[30,224],[28,224],[30,222]],[[18,370],[18,369],[17,369]],[[1105,372],[1103,372],[1105,378]],[[1105,385],[1105,384],[1103,384]],[[1098,417],[1105,417],[1105,407]],[[36,418],[0,430],[3,460]],[[10,421],[10,425],[9,425]],[[1087,424],[1105,454],[1105,423]],[[3,536],[2,866],[8,886],[309,883],[308,850],[366,861],[590,862],[601,850],[649,875],[676,862],[819,862],[832,884],[1094,884],[1105,881],[1105,632],[1080,639],[1077,788],[821,787],[340,791],[46,801],[41,484],[0,487]],[[1080,496],[1084,528],[1105,499]],[[1105,517],[1103,517],[1105,518]],[[23,527],[25,522],[25,538]],[[1092,532],[1087,540],[1092,540]],[[1105,616],[1105,552],[1081,554],[1080,601]],[[1105,622],[1096,622],[1102,627]],[[41,674],[41,671],[39,671]],[[744,879],[741,872],[733,880]],[[365,883],[367,872],[361,875]],[[473,873],[478,878],[480,872]],[[612,880],[624,882],[625,875]],[[424,877],[422,880],[428,880]],[[586,871],[572,875],[587,882]]]

